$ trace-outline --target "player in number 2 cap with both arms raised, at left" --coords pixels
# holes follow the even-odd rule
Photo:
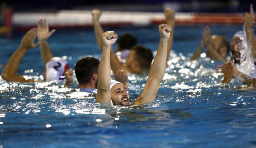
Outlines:
[[[7,64],[2,71],[2,78],[11,82],[35,82],[35,80],[27,80],[21,75],[17,74],[21,59],[29,49],[36,48],[40,45],[41,56],[45,70],[43,72],[43,78],[46,81],[52,80],[64,80],[66,84],[73,82],[73,70],[69,69],[69,65],[66,60],[59,57],[54,57],[50,50],[47,39],[55,32],[52,30],[49,32],[48,23],[45,19],[38,21],[37,28],[30,29],[22,38],[21,45],[16,52],[11,56]],[[34,43],[36,36],[38,42]]]

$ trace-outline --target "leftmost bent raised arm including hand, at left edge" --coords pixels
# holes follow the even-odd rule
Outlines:
[[[36,32],[37,30],[35,28],[30,29],[22,38],[21,45],[19,48],[15,51],[14,54],[12,54],[11,58],[5,65],[5,68],[3,68],[2,71],[2,78],[7,81],[11,82],[34,82],[33,80],[26,80],[21,75],[17,74],[19,64],[21,62],[21,59],[25,55],[25,53],[31,49],[35,48],[39,45],[39,43],[34,44],[35,38],[36,38]]]

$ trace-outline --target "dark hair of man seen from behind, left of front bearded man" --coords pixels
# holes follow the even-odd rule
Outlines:
[[[98,73],[100,61],[93,57],[78,60],[74,68],[79,84],[89,83],[93,73]]]

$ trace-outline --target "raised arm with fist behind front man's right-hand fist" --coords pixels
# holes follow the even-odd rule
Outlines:
[[[173,46],[173,30],[174,30],[174,23],[175,23],[175,11],[170,8],[166,8],[164,11],[165,19],[166,19],[166,24],[171,27],[171,32],[170,32],[170,37],[168,40],[168,45],[167,45],[167,61],[170,56],[171,48]]]

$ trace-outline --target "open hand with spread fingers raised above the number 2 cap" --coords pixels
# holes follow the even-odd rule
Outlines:
[[[48,22],[45,19],[40,19],[37,22],[37,28],[37,37],[40,42],[46,41],[55,32],[55,29],[49,32]]]

